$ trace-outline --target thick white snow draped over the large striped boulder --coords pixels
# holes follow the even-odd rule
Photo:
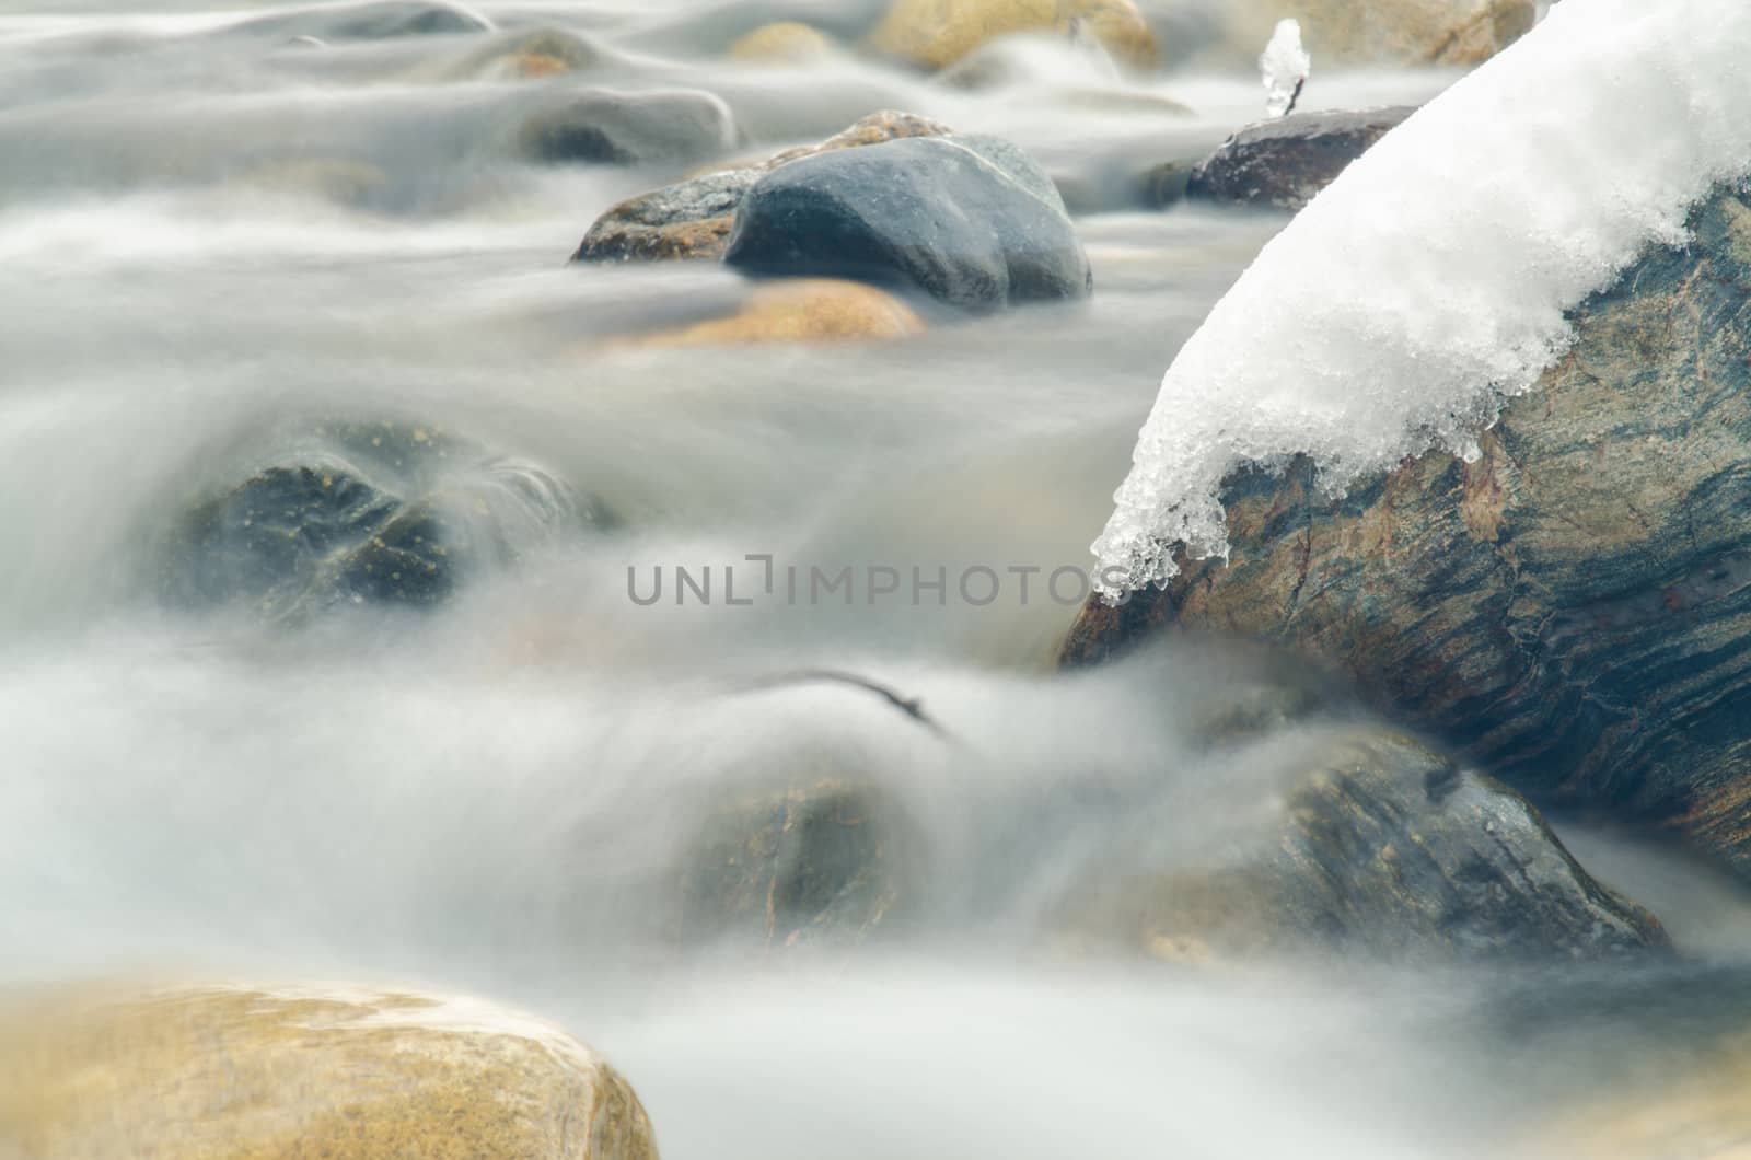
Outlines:
[[[1182,347],[1093,548],[1117,598],[1227,554],[1217,491],[1297,454],[1340,492],[1478,431],[1567,312],[1751,165],[1742,0],[1567,0],[1389,133]]]

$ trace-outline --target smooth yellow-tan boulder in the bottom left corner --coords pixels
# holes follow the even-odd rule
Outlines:
[[[0,1155],[655,1160],[639,1097],[564,1030],[362,988],[56,992],[0,1011]]]

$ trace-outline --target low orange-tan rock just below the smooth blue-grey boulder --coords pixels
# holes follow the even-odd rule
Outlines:
[[[868,342],[923,333],[904,301],[861,282],[781,279],[756,286],[741,310],[637,338],[643,347],[700,347],[748,342]]]

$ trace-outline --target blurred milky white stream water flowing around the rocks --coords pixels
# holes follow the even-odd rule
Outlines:
[[[788,11],[835,28],[858,7]],[[1075,608],[1042,592],[1091,566],[1161,370],[1285,221],[1140,212],[1126,180],[1252,119],[1261,88],[1219,51],[1135,81],[1040,46],[993,91],[849,56],[725,61],[746,9],[480,4],[503,32],[310,44],[305,18],[259,19],[292,9],[242,0],[0,4],[5,978],[499,995],[622,1065],[678,1160],[1476,1155],[1550,1100],[1656,1074],[1697,1004],[1746,1006],[1723,965],[1201,973],[1042,948],[1044,899],[1098,857],[1112,803],[1166,796],[1192,841],[1268,792],[1245,755],[1187,741],[1222,659],[1054,676]],[[524,28],[599,53],[517,79],[482,47]],[[1329,75],[1308,103],[1450,81]],[[893,345],[620,342],[746,289],[713,265],[566,265],[601,210],[697,163],[522,159],[522,119],[587,86],[714,93],[730,156],[877,109],[1009,137],[1070,195],[1096,294]],[[166,603],[179,513],[331,419],[447,433],[616,519],[538,529],[432,613],[287,627]],[[676,568],[744,584],[748,555],[942,568],[951,598],[676,605]],[[1000,596],[960,599],[968,568]],[[1028,599],[1019,568],[1042,569]],[[630,599],[629,569],[665,571],[664,599]],[[946,732],[842,683],[772,682],[823,668],[919,697]],[[702,803],[816,767],[923,820],[930,906],[905,937],[665,937]],[[1751,948],[1709,871],[1574,838],[1698,962]]]

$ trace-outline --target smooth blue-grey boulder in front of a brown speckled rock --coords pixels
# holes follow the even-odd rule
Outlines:
[[[914,137],[784,163],[742,198],[723,261],[916,287],[963,308],[1084,298],[1051,179],[995,137]]]

